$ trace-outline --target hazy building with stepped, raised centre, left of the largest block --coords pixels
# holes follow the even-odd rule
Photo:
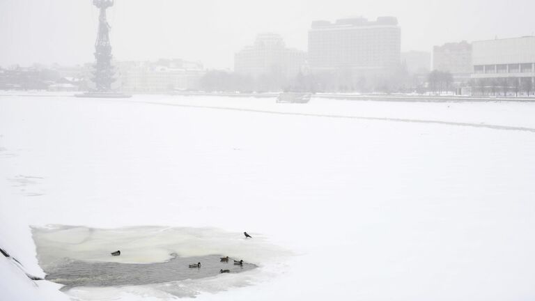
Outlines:
[[[287,48],[276,33],[261,33],[254,45],[244,47],[234,56],[234,71],[240,75],[259,77],[276,75],[295,77],[304,68],[305,53]]]

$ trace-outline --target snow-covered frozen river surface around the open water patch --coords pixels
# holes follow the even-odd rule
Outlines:
[[[0,95],[0,247],[42,277],[29,226],[185,227],[204,233],[185,254],[258,265],[75,300],[534,300],[534,116],[522,102]],[[0,300],[68,298],[3,256],[0,278]]]

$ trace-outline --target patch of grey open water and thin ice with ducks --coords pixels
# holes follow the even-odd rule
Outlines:
[[[168,297],[217,293],[265,278],[267,274],[256,268],[290,255],[261,236],[245,239],[241,233],[217,229],[48,226],[32,230],[46,279],[64,284],[63,290],[80,299],[91,299],[95,290],[105,295],[148,290],[150,295]],[[121,256],[111,256],[118,249]],[[228,263],[219,261],[224,256],[230,257]],[[233,259],[245,264],[234,265]],[[201,268],[188,268],[197,262]],[[231,272],[219,274],[221,269]]]

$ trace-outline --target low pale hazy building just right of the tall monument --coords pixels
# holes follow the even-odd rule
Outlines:
[[[161,93],[199,88],[205,74],[199,62],[161,59],[157,62],[117,62],[117,86],[128,93]]]

